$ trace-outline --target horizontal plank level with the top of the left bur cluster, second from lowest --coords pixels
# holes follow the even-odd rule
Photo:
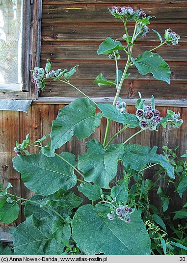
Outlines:
[[[118,60],[119,70],[124,70],[125,60]],[[168,62],[171,69],[171,80],[173,81],[186,81],[187,80],[187,62]],[[41,67],[45,68],[46,60],[41,61]],[[76,69],[72,79],[95,79],[96,76],[102,73],[107,79],[115,79],[115,61],[112,59],[107,60],[53,60],[52,68],[54,70],[59,68],[70,69],[75,65],[80,65]],[[62,69],[63,69],[62,68]],[[131,73],[131,79],[154,79],[152,74],[141,75],[138,73],[135,67],[131,67],[129,71]]]

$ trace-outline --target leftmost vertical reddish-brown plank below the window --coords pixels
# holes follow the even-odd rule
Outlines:
[[[14,147],[19,141],[19,112],[0,111],[0,182],[6,187],[10,182],[13,185],[9,190],[12,194],[20,196],[20,174],[12,166],[12,158],[16,156]],[[21,213],[16,222],[2,224],[0,227],[5,231],[21,222]]]

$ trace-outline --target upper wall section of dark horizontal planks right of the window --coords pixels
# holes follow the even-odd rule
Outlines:
[[[187,1],[186,0],[43,0],[41,65],[50,58],[53,69],[71,68],[80,64],[71,80],[91,97],[114,97],[114,87],[99,88],[93,83],[95,77],[103,73],[108,79],[115,79],[115,61],[106,55],[98,55],[97,50],[107,36],[122,43],[123,23],[115,19],[107,10],[113,4],[141,8],[151,19],[150,32],[145,38],[138,38],[133,56],[159,45],[152,29],[163,36],[164,29],[172,28],[180,36],[177,46],[164,45],[157,52],[171,68],[171,84],[155,80],[152,75],[142,76],[136,68],[131,68],[131,79],[126,80],[121,96],[137,98],[137,91],[144,98],[153,94],[161,99],[187,99]],[[134,24],[130,23],[130,33]],[[124,43],[125,45],[125,43]],[[120,53],[121,54],[121,53]],[[126,62],[121,55],[119,69]],[[40,96],[79,97],[79,93],[61,83],[48,81]]]

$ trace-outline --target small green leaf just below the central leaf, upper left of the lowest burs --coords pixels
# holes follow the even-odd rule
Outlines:
[[[103,194],[103,190],[96,184],[80,184],[77,187],[89,200],[96,201]]]

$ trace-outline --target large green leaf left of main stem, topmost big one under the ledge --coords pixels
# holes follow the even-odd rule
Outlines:
[[[88,98],[76,99],[61,108],[51,131],[51,149],[60,148],[76,135],[78,139],[87,138],[100,126],[101,113],[95,114],[96,105]]]

